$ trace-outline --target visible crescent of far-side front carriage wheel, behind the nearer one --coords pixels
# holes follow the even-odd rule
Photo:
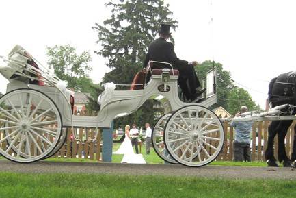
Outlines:
[[[165,162],[169,162],[171,164],[178,164],[169,153],[167,153],[167,149],[165,148],[165,143],[163,141],[163,132],[165,130],[165,124],[167,123],[167,120],[170,118],[172,114],[164,114],[161,116],[157,123],[153,127],[152,131],[152,145],[154,148],[154,151],[157,153],[157,155],[165,160]]]

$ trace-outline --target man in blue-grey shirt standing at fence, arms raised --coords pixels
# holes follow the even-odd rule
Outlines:
[[[240,112],[235,114],[236,117],[241,116],[241,114],[247,112],[246,106],[241,106]],[[250,152],[250,134],[252,132],[253,121],[232,121],[230,123],[231,127],[235,129],[235,139],[233,143],[234,147],[234,161],[246,161],[251,162],[251,152]]]

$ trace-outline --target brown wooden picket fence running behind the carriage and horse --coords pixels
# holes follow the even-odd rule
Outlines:
[[[294,126],[296,121],[293,121],[293,124],[288,129],[288,133],[286,134],[286,153],[288,157],[291,157],[292,149],[293,149],[293,138],[294,138]],[[233,142],[234,142],[234,129],[230,127],[228,122],[224,122],[224,147],[217,160],[233,160]],[[252,161],[265,161],[264,151],[267,147],[267,127],[269,125],[269,121],[256,121],[252,127],[252,145],[251,145],[251,154]],[[66,129],[64,129],[66,130]],[[85,158],[90,160],[101,160],[101,147],[102,147],[102,136],[101,132],[98,134],[98,138],[96,141],[92,142],[90,139],[93,139],[95,136],[94,129],[90,128],[78,128],[75,129],[77,136],[82,138],[82,142],[78,142],[72,138],[72,129],[68,128],[67,138],[65,144],[61,149],[53,157],[57,158]],[[66,132],[66,131],[64,131]],[[1,138],[1,133],[0,133]],[[1,147],[6,147],[6,142],[3,142]],[[278,154],[278,140],[277,136],[275,136],[275,158],[277,158]]]

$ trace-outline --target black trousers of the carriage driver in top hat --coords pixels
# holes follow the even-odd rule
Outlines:
[[[156,65],[153,66],[152,69],[171,69],[167,66]],[[198,76],[196,75],[196,70],[192,64],[186,66],[179,66],[174,69],[178,69],[179,71],[179,78],[178,78],[178,85],[182,89],[185,97],[187,99],[194,99],[196,97],[196,88],[200,87],[200,81],[198,80]],[[146,82],[150,80],[151,73],[148,73],[146,76]]]

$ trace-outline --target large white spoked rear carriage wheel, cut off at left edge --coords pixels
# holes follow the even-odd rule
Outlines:
[[[49,97],[22,88],[0,99],[0,153],[14,162],[35,162],[60,140],[62,118]]]

